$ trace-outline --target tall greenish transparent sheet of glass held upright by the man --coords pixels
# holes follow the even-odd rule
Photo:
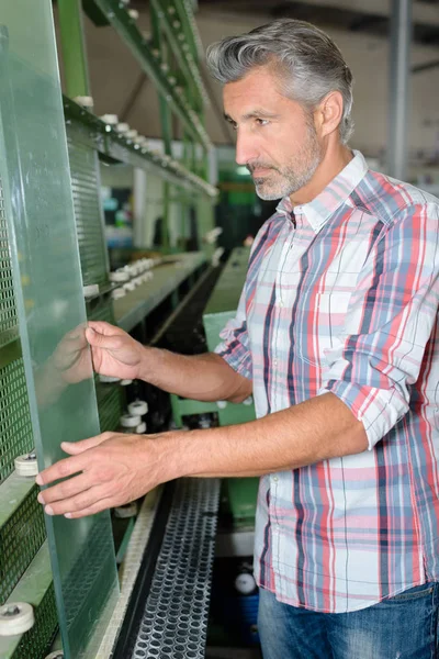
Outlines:
[[[0,2],[0,177],[44,468],[61,440],[99,433],[50,0]],[[110,515],[46,524],[65,657],[95,659],[119,591]]]

